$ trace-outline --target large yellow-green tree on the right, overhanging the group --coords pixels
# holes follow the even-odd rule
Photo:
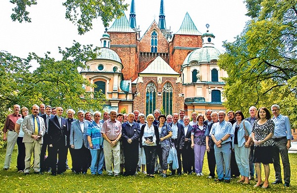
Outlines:
[[[281,105],[297,126],[297,0],[246,0],[251,20],[218,65],[227,71],[227,109]],[[290,99],[290,100],[288,100]]]

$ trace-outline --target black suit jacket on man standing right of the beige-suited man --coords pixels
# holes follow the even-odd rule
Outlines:
[[[65,118],[61,117],[61,125],[59,124],[57,116],[54,116],[49,119],[49,145],[50,144],[59,144],[66,146],[66,133],[67,126]]]

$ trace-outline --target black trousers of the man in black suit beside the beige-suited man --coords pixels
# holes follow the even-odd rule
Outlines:
[[[51,173],[52,174],[60,174],[66,171],[66,158],[67,158],[67,146],[65,146],[65,143],[57,143],[52,144],[52,147],[48,149],[49,157],[47,158],[49,160],[49,165],[51,167]],[[56,167],[58,158],[58,164]]]

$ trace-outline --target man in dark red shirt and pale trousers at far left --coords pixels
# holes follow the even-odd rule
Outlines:
[[[4,170],[9,169],[10,167],[12,151],[17,141],[18,134],[17,132],[15,132],[14,126],[17,119],[22,117],[19,114],[19,112],[20,112],[20,106],[13,105],[13,114],[10,114],[6,117],[4,127],[2,129],[3,141],[7,141],[6,154],[5,154],[5,160],[4,160],[4,166],[3,166]]]

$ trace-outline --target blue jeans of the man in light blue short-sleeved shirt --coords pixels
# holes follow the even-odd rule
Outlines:
[[[214,155],[217,165],[218,179],[230,180],[231,144],[223,144],[221,148],[214,146]]]

